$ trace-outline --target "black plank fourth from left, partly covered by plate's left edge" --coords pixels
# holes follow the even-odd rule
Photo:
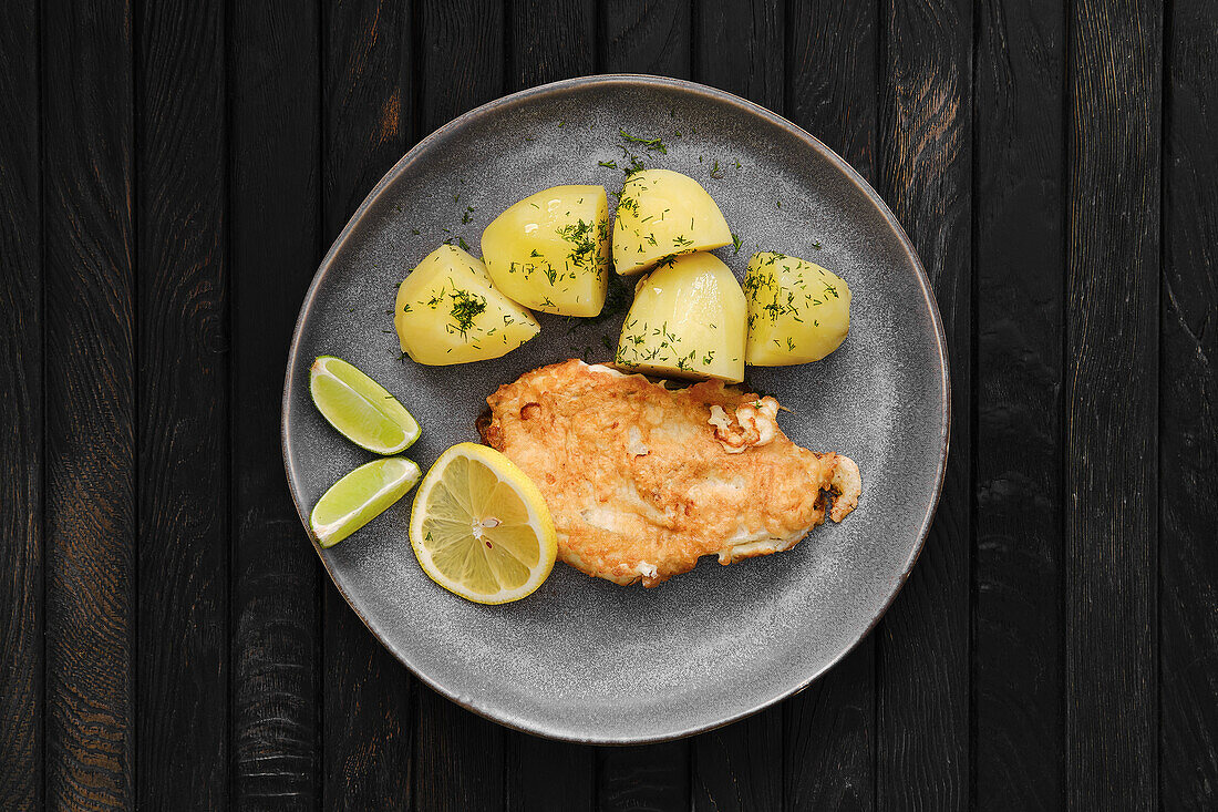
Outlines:
[[[233,806],[314,808],[320,567],[284,483],[279,402],[320,249],[319,12],[229,9]]]

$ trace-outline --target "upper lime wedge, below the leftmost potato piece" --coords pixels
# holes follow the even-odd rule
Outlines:
[[[361,447],[387,456],[419,439],[419,424],[397,397],[342,358],[318,356],[309,391],[330,426]]]

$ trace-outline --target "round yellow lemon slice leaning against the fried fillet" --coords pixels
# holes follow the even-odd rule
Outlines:
[[[474,443],[445,451],[424,477],[410,546],[431,580],[477,604],[531,594],[558,555],[537,485],[505,456]]]

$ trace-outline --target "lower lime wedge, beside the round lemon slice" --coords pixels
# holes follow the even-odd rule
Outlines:
[[[309,513],[309,530],[323,547],[333,547],[402,499],[417,482],[419,466],[406,457],[362,465],[322,495]]]

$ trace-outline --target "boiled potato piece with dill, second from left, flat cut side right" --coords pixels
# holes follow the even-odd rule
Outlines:
[[[596,316],[609,283],[604,187],[554,187],[513,205],[482,232],[495,287],[526,307]]]

